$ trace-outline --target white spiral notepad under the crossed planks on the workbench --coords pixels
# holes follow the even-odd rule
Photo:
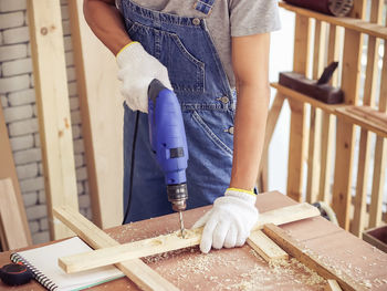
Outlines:
[[[117,268],[107,266],[77,273],[65,273],[59,266],[60,257],[91,251],[79,237],[55,242],[45,247],[14,252],[11,261],[23,262],[34,278],[48,290],[81,290],[124,277]]]

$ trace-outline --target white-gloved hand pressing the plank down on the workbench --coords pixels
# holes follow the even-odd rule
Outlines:
[[[229,188],[223,197],[215,200],[213,207],[192,228],[205,226],[200,250],[208,253],[215,249],[241,247],[258,221],[255,194]]]

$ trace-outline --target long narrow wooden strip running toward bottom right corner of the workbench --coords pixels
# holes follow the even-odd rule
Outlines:
[[[336,280],[344,290],[368,290],[366,287],[355,282],[353,278],[347,276],[345,272],[341,272],[339,270],[332,268],[332,266],[324,263],[318,258],[318,254],[312,254],[311,252],[303,250],[302,247],[300,247],[299,243],[295,241],[295,239],[290,237],[281,228],[274,225],[265,225],[263,227],[263,231],[289,254],[296,258],[306,267],[316,271],[323,278]]]

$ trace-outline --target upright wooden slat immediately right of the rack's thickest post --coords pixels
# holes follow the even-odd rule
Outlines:
[[[384,1],[373,0],[370,7],[370,22],[380,24],[383,21]],[[364,89],[363,104],[366,106],[375,105],[376,89],[378,81],[378,62],[380,39],[373,35],[368,38],[367,45],[367,67]],[[370,162],[370,134],[366,128],[360,129],[359,157],[356,178],[356,196],[354,218],[351,232],[362,237],[365,227],[366,204],[367,204],[367,181]]]

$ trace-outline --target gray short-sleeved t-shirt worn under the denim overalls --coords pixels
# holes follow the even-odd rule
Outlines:
[[[118,0],[126,1],[126,0]],[[117,2],[118,2],[117,1]],[[135,3],[180,17],[206,18],[231,87],[236,80],[231,63],[231,37],[244,37],[279,30],[278,0],[216,0],[209,15],[197,11],[197,0],[133,0]]]

